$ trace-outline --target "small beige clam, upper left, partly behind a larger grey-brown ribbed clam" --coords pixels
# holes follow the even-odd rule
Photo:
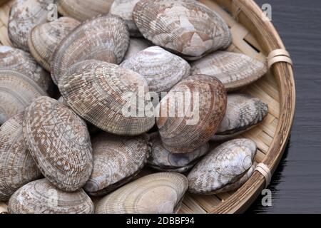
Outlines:
[[[59,43],[80,22],[68,17],[40,24],[31,29],[28,38],[29,50],[36,61],[47,71],[51,71],[51,58]]]

